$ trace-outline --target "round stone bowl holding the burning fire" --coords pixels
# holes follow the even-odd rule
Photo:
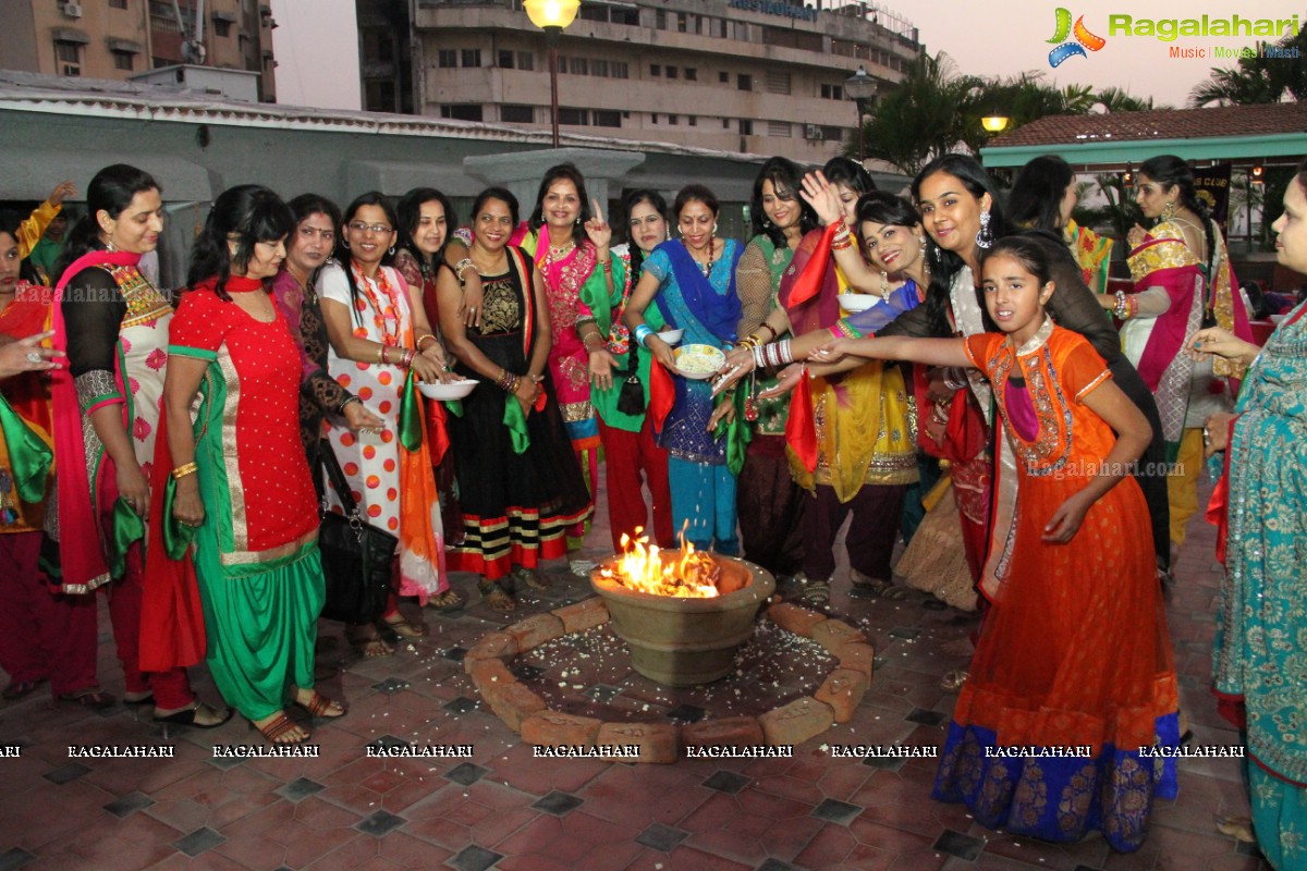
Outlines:
[[[663,554],[665,560],[678,554]],[[721,567],[712,598],[655,595],[626,589],[603,576],[616,568],[617,556],[591,573],[591,586],[604,599],[613,632],[631,649],[631,666],[667,687],[694,687],[731,673],[736,649],[753,635],[758,609],[776,592],[766,569],[735,556],[711,555]]]

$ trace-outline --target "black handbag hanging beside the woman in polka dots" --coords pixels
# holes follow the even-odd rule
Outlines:
[[[318,456],[345,509],[344,515],[329,511],[325,500],[319,508],[318,550],[327,578],[327,603],[322,615],[328,620],[371,623],[382,616],[391,595],[391,568],[400,542],[363,520],[349,481],[325,439]]]

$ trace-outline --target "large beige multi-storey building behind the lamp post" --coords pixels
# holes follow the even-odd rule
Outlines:
[[[365,108],[549,129],[545,35],[521,0],[358,0],[358,20]],[[844,80],[864,67],[889,87],[920,51],[873,3],[584,0],[558,43],[558,123],[821,162],[856,124]]]

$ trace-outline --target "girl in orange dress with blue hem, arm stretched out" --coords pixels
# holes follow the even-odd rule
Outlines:
[[[984,300],[1001,333],[957,340],[833,340],[844,354],[970,366],[993,385],[1018,457],[1013,541],[982,592],[992,609],[953,712],[935,798],[991,828],[1050,841],[1102,829],[1140,847],[1153,797],[1176,791],[1178,693],[1148,505],[1131,477],[1151,439],[1144,414],[1077,333],[1043,306],[1056,293],[1038,243],[999,240]],[[1114,431],[1119,435],[1114,436]]]

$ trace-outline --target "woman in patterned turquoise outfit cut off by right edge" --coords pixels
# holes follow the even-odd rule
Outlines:
[[[1307,161],[1274,223],[1281,265],[1307,273]],[[1188,350],[1247,364],[1235,414],[1202,428],[1226,451],[1213,496],[1226,582],[1213,642],[1222,709],[1246,730],[1252,831],[1278,871],[1307,868],[1307,303],[1265,347],[1221,328]],[[1213,511],[1216,509],[1216,511]]]

